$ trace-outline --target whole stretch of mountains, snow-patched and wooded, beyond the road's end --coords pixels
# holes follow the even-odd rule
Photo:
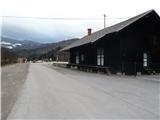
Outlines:
[[[54,58],[55,60],[60,49],[79,40],[78,38],[74,38],[55,43],[43,44],[29,40],[15,40],[8,37],[1,37],[1,39],[1,47],[8,48],[10,51],[16,53],[18,57],[26,57],[28,60],[44,58]]]

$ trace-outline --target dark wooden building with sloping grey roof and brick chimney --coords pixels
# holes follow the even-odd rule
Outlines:
[[[70,66],[135,74],[160,70],[160,17],[150,10],[65,47]]]

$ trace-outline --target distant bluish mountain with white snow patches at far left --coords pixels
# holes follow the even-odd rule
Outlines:
[[[38,48],[40,45],[41,43],[29,40],[20,41],[8,37],[1,37],[1,46],[8,49],[12,49],[14,51],[23,49],[34,49]]]

